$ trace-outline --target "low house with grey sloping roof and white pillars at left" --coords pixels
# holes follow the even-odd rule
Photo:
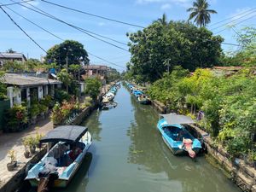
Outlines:
[[[3,83],[7,84],[11,108],[21,102],[27,102],[30,106],[33,99],[39,101],[44,96],[54,96],[55,89],[60,88],[62,84],[59,80],[29,76],[25,73],[6,73],[3,76]]]

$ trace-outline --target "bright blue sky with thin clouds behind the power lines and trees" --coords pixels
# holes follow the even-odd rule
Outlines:
[[[18,0],[13,0],[18,2]],[[20,1],[20,0],[19,0]],[[186,11],[192,7],[193,0],[48,0],[52,3],[58,3],[69,8],[79,9],[93,15],[101,15],[113,20],[121,20],[138,26],[148,26],[152,21],[160,18],[164,13],[168,20],[187,20],[189,13]],[[229,26],[234,26],[236,31],[240,31],[245,26],[256,25],[256,0],[208,0],[210,9],[218,12],[212,15],[212,22],[209,29],[213,34],[221,35],[224,42],[236,44],[236,32]],[[1,4],[12,3],[11,0],[0,0]],[[61,44],[61,40],[55,38],[47,32],[44,32],[38,26],[44,27],[61,39],[73,39],[84,44],[84,49],[91,54],[101,57],[107,61],[111,61],[121,67],[113,66],[107,61],[102,61],[93,55],[90,55],[91,64],[103,64],[109,67],[115,67],[122,71],[126,62],[130,60],[130,53],[124,49],[128,49],[125,45],[129,41],[126,32],[137,32],[141,30],[137,26],[128,26],[116,23],[110,20],[103,20],[90,15],[75,13],[68,9],[62,9],[40,0],[29,2],[38,9],[43,9],[50,15],[54,15],[60,20],[64,20],[74,26],[79,26],[90,32],[95,32],[108,38],[113,38],[123,44],[118,44],[105,39],[112,44],[116,44],[123,49],[118,49],[110,44],[105,44],[96,38],[79,32],[78,30],[67,26],[57,20],[52,20],[44,15],[39,15],[30,9],[26,9],[20,4],[3,6],[6,12],[15,20],[15,22],[27,32],[43,49],[48,50],[55,44]],[[30,6],[27,3],[23,3]],[[16,15],[9,9],[14,10],[28,20],[32,20],[38,26],[32,25],[30,22]],[[244,14],[242,14],[244,13]],[[242,14],[242,15],[241,15]],[[237,16],[238,15],[238,16]],[[23,53],[29,58],[40,59],[41,55],[45,55],[44,50],[40,49],[31,39],[20,31],[14,25],[7,15],[0,9],[0,52],[7,49],[13,49]],[[231,18],[231,19],[230,19]],[[227,19],[227,20],[226,20]],[[216,24],[221,20],[226,20]],[[211,26],[212,25],[212,26]],[[223,25],[223,26],[222,26]],[[219,26],[219,27],[218,27]],[[214,29],[214,27],[218,27]],[[222,31],[223,32],[219,32]],[[219,32],[219,33],[218,33]],[[236,50],[236,46],[223,45],[224,51],[228,52]]]

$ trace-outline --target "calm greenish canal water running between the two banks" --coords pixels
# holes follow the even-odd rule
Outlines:
[[[174,156],[156,129],[158,113],[136,102],[125,87],[118,107],[95,111],[83,125],[93,136],[90,153],[67,192],[240,192],[217,168],[198,157]]]

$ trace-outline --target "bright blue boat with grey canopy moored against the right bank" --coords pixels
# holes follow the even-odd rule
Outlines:
[[[191,124],[194,121],[184,115],[176,113],[160,114],[157,128],[162,138],[173,154],[189,154],[191,158],[201,150],[201,142],[193,137],[185,129],[184,124]]]

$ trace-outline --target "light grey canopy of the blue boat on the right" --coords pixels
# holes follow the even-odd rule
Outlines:
[[[160,114],[160,117],[163,117],[167,124],[194,124],[194,120],[189,116],[185,116],[177,113],[169,113],[169,114]]]

